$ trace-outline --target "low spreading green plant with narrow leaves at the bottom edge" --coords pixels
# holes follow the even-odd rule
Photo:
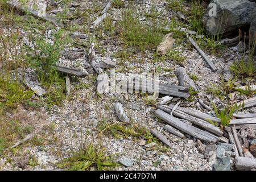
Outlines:
[[[112,158],[105,153],[105,148],[90,143],[85,148],[74,152],[70,158],[64,159],[62,167],[71,171],[85,171],[91,167],[97,170],[105,170],[117,166]]]

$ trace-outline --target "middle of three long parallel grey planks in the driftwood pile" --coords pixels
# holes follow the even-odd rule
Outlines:
[[[165,105],[160,105],[157,106],[158,109],[161,109],[163,111],[166,111],[167,113],[171,112],[171,109],[169,109],[167,106]],[[192,122],[194,125],[197,125],[207,131],[210,131],[218,136],[222,136],[223,132],[217,127],[212,125],[211,123],[204,121],[203,119],[199,119],[196,117],[193,117],[192,115],[189,115],[187,113],[184,113],[183,111],[180,111],[179,109],[176,109],[172,112],[172,114],[174,114],[176,117],[182,118],[182,119],[186,119],[187,121]]]

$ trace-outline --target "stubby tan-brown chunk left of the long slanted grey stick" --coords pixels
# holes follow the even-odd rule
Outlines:
[[[171,32],[164,36],[162,42],[156,48],[156,52],[158,53],[158,55],[164,56],[172,48],[175,42],[175,39],[172,38],[173,35],[174,33]]]

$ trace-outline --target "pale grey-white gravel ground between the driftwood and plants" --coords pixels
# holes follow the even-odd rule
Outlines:
[[[84,0],[81,2],[80,7],[86,7],[86,9],[92,9],[95,5],[98,5],[100,9],[103,9],[107,1],[89,1]],[[128,3],[127,1],[125,1]],[[76,2],[73,2],[76,5]],[[150,11],[154,6],[156,9],[163,11],[160,18],[166,19],[170,22],[172,18],[172,12],[166,8],[166,1],[138,1],[138,11]],[[31,5],[32,6],[32,5]],[[75,6],[74,6],[75,7]],[[121,18],[122,9],[112,8],[109,13],[113,20],[118,21]],[[96,17],[97,14],[91,14],[91,17]],[[47,32],[51,34],[51,31]],[[113,54],[118,51],[122,51],[123,47],[111,39],[109,35],[102,34],[102,40],[99,39],[99,46],[97,48],[97,56],[100,59],[113,59]],[[26,41],[26,39],[24,39]],[[85,40],[87,43],[88,39]],[[77,51],[78,48],[69,48],[73,51]],[[191,72],[196,63],[201,60],[199,53],[188,47],[178,47],[181,51],[181,55],[185,57],[183,67]],[[68,48],[65,50],[67,51]],[[105,53],[101,53],[100,50],[105,50]],[[88,72],[86,65],[88,60],[85,59],[88,49],[82,48],[80,51],[85,53],[81,54],[78,58],[70,60],[61,57],[59,65],[76,68],[84,72]],[[152,62],[153,54],[155,50],[147,51],[146,56],[137,53],[131,60],[122,63],[119,59],[114,59],[117,63],[115,69],[123,68],[130,69],[127,72],[119,72],[118,75],[123,78],[129,77],[131,73],[143,73],[152,72],[157,67],[172,68],[173,71],[159,72],[159,80],[161,82],[171,83],[178,85],[179,82],[174,75],[174,70],[179,65],[174,64],[171,60]],[[198,80],[195,81],[197,88],[200,89],[198,97],[207,99],[208,96],[216,104],[221,104],[221,101],[207,93],[207,86],[210,84],[218,84],[220,80],[220,73],[225,68],[226,61],[230,55],[235,55],[237,58],[240,56],[237,52],[234,52],[232,48],[228,48],[225,51],[225,55],[217,57],[209,55],[210,60],[217,67],[217,71],[213,72],[209,65],[203,60],[203,64],[197,69],[196,75]],[[106,70],[107,71],[107,70]],[[131,167],[125,167],[120,165],[115,170],[212,170],[213,162],[208,162],[204,159],[204,155],[200,154],[196,148],[196,139],[188,136],[188,138],[181,139],[163,131],[164,134],[170,139],[171,147],[167,151],[159,150],[163,148],[163,144],[158,144],[160,147],[147,147],[144,144],[144,140],[134,139],[133,137],[115,139],[112,135],[100,133],[99,125],[102,121],[109,123],[118,122],[118,118],[114,112],[114,103],[119,101],[125,107],[129,118],[133,119],[133,124],[151,129],[156,127],[160,130],[164,123],[158,122],[158,119],[154,118],[152,114],[155,106],[146,105],[143,102],[143,96],[139,94],[118,94],[118,93],[104,93],[101,98],[96,96],[96,82],[92,81],[92,75],[84,78],[73,79],[71,82],[71,90],[75,90],[78,84],[91,84],[89,88],[82,88],[75,90],[71,93],[71,96],[63,102],[61,106],[53,106],[51,109],[46,110],[42,107],[36,111],[31,111],[20,107],[19,113],[26,115],[28,121],[32,121],[32,125],[36,126],[36,131],[44,131],[39,135],[39,139],[43,138],[42,142],[26,142],[14,152],[9,152],[7,156],[0,159],[0,169],[2,170],[22,170],[22,162],[26,163],[28,158],[31,160],[33,156],[36,164],[28,165],[23,170],[60,170],[58,163],[64,158],[71,156],[71,152],[81,147],[81,143],[88,144],[93,142],[94,144],[101,144],[106,148],[106,153],[114,155],[114,160],[118,162],[122,156],[132,160]],[[94,74],[95,75],[95,74]],[[244,99],[241,97],[241,99]],[[179,99],[174,99],[172,103],[176,104]],[[209,102],[209,101],[208,101]],[[138,107],[138,110],[129,109],[132,105]],[[185,101],[183,104],[195,107],[195,102],[189,104]],[[106,109],[106,106],[110,110]],[[204,110],[207,112],[207,110]],[[214,113],[211,111],[210,113]],[[10,116],[14,117],[14,116]],[[24,121],[25,122],[25,121]],[[44,129],[43,126],[47,126]],[[205,143],[206,144],[206,143]],[[27,152],[30,151],[30,152]],[[12,159],[12,160],[10,160]]]

